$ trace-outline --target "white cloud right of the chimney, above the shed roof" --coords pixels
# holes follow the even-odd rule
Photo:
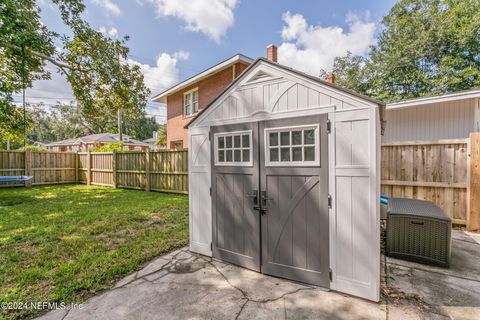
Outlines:
[[[348,30],[309,25],[301,14],[290,12],[284,13],[282,19],[286,25],[282,28],[284,42],[278,47],[278,62],[312,75],[318,75],[321,69],[331,70],[336,56],[344,56],[347,51],[364,55],[375,43],[375,23],[368,12],[363,17],[347,14]]]

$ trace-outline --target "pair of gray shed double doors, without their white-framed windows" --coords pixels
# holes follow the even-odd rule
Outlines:
[[[212,127],[252,130],[250,167],[212,163],[213,256],[249,269],[329,287],[327,116]],[[268,128],[319,125],[319,166],[265,165]],[[212,140],[212,159],[215,142]],[[254,209],[246,194],[259,190]],[[257,208],[258,209],[258,208]]]

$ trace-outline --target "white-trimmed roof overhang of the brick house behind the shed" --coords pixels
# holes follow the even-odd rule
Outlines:
[[[253,62],[253,59],[252,58],[249,58],[243,54],[236,54],[220,63],[217,63],[216,65],[200,72],[200,73],[197,73],[196,75],[188,78],[187,80],[185,81],[182,81],[180,83],[177,83],[176,85],[174,85],[173,87],[170,87],[169,89],[163,91],[162,93],[159,93],[157,94],[156,96],[154,96],[152,98],[152,101],[154,102],[160,102],[160,103],[167,103],[167,96],[171,95],[172,93],[175,93],[185,87],[188,87],[189,85],[197,82],[197,81],[200,81],[202,79],[205,79],[206,77],[209,77],[211,76],[212,74],[215,74],[225,68],[228,68],[230,67],[231,65],[237,63],[237,62],[245,62],[245,63],[248,63],[248,64],[251,64]]]

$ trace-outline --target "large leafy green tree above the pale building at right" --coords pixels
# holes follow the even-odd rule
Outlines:
[[[365,72],[384,101],[480,86],[480,1],[401,0],[382,20]]]

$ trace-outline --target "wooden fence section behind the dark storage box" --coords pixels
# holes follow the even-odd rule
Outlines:
[[[472,157],[470,151],[479,141],[480,135],[473,133],[469,139],[382,144],[382,193],[430,200],[454,223],[467,224],[472,230],[480,228],[472,224],[480,218],[480,190],[475,189],[470,177],[472,170],[479,174],[476,170],[480,165],[478,169],[473,166],[480,158]]]

